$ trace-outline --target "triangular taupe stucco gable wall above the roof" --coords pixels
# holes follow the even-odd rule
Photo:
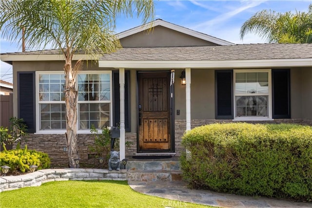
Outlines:
[[[168,46],[207,46],[215,43],[195,38],[162,26],[154,27],[150,33],[140,33],[121,38],[123,47],[168,47]]]

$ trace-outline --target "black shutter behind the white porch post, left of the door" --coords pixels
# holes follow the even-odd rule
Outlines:
[[[130,100],[129,100],[129,71],[125,71],[125,130],[130,132]],[[113,72],[113,126],[120,121],[120,93],[119,93],[119,72]]]

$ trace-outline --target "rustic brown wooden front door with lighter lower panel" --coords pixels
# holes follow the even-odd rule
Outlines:
[[[138,73],[139,151],[170,151],[170,73]]]

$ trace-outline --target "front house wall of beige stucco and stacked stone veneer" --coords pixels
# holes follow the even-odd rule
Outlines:
[[[63,61],[14,61],[14,100],[17,100],[17,72],[25,71],[62,71]],[[116,69],[98,68],[96,65],[84,64],[82,70],[108,71]],[[127,70],[127,69],[125,69]],[[159,71],[154,69],[155,71]],[[219,69],[218,69],[219,70]],[[142,70],[142,71],[151,71]],[[153,70],[152,70],[153,71]],[[170,69],[166,70],[170,71]],[[184,151],[181,137],[186,128],[185,121],[185,86],[180,84],[183,69],[175,70],[175,152],[177,156]],[[215,119],[215,70],[191,69],[191,126],[192,128],[215,122],[233,122],[233,120]],[[131,132],[126,132],[126,141],[131,148],[126,148],[126,156],[130,157],[137,152],[137,70],[130,69],[130,109]],[[180,114],[176,114],[180,110]],[[14,102],[14,115],[17,116],[17,102]],[[257,121],[256,123],[298,123],[312,125],[312,68],[291,69],[291,119],[274,119],[273,121]],[[254,121],[250,121],[254,123]],[[92,134],[78,134],[78,147],[81,163],[96,166],[96,159],[89,159],[88,146],[93,143]],[[66,140],[64,134],[30,134],[27,141],[29,149],[47,152],[53,166],[66,167],[68,155],[64,150]]]

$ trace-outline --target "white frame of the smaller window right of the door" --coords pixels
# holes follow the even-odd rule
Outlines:
[[[236,73],[250,73],[250,72],[267,72],[268,73],[268,83],[269,83],[269,88],[268,94],[263,94],[263,95],[268,95],[268,116],[241,116],[237,117],[236,116],[236,99],[235,99],[235,78],[236,78]],[[272,73],[271,69],[236,69],[233,70],[233,102],[234,102],[234,119],[233,121],[268,121],[268,120],[273,120],[272,119]],[[246,94],[248,95],[248,94]],[[262,95],[262,94],[260,94]],[[237,95],[238,96],[238,95]],[[245,95],[243,95],[245,96]]]

